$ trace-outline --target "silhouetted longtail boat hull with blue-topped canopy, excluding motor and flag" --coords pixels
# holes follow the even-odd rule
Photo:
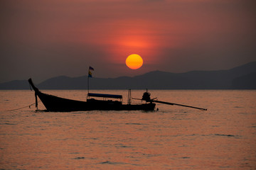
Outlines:
[[[39,91],[38,88],[33,84],[32,79],[28,79],[28,82],[35,91],[36,107],[38,106],[38,96],[42,101],[43,105],[46,107],[47,111],[154,111],[154,108],[156,106],[156,104],[151,101],[140,104],[132,104],[131,102],[123,104],[122,95],[113,94],[88,93],[87,101],[75,101],[68,98],[60,98],[58,96],[44,94]],[[129,91],[129,101],[131,101],[130,93],[131,92]],[[99,100],[97,98],[103,99]],[[114,100],[107,100],[110,98],[114,98]]]

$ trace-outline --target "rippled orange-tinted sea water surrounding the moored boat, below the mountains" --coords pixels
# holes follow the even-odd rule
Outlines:
[[[79,100],[87,93],[44,92]],[[0,169],[256,169],[256,91],[149,92],[208,111],[8,111],[34,103],[34,93],[0,91]]]

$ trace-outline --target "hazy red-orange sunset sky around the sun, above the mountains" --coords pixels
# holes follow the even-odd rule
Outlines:
[[[0,83],[155,70],[231,69],[256,61],[253,0],[1,0]],[[138,54],[139,69],[125,60]]]

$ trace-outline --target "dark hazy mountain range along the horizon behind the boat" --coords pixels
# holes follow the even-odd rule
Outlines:
[[[37,86],[39,89],[87,89],[87,76],[53,77]],[[29,86],[27,80],[15,80],[0,84],[0,89],[29,89]],[[154,71],[136,77],[90,78],[90,89],[256,89],[256,62],[218,71]]]

